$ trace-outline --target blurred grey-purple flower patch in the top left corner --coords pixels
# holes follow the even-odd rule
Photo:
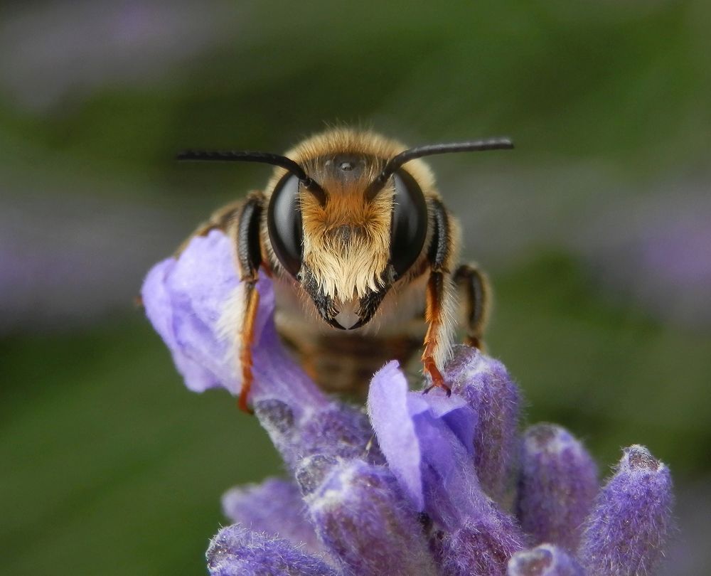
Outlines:
[[[0,89],[43,112],[104,87],[165,83],[181,63],[244,33],[235,16],[248,9],[186,0],[17,4],[0,23],[0,50],[12,55],[0,64]]]

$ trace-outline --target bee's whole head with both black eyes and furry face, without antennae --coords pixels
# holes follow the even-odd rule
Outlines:
[[[427,167],[412,162],[368,196],[387,160],[403,148],[346,131],[301,144],[289,156],[319,184],[325,202],[293,174],[278,171],[272,179],[267,232],[278,267],[335,328],[367,324],[392,284],[422,256],[429,220],[425,193],[434,194]]]

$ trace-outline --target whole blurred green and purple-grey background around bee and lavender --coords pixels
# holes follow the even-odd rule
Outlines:
[[[279,473],[226,393],[188,393],[132,304],[150,265],[324,122],[415,145],[491,272],[526,420],[601,474],[670,464],[669,574],[711,513],[711,5],[32,1],[0,19],[0,572],[202,574],[220,495]]]

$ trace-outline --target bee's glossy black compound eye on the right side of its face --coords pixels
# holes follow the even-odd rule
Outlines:
[[[415,264],[427,236],[427,203],[422,189],[405,170],[392,175],[395,196],[390,226],[390,264],[397,277]]]

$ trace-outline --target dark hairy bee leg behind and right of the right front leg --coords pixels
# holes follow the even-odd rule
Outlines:
[[[483,350],[485,346],[482,338],[491,308],[488,278],[475,264],[463,264],[454,271],[454,283],[463,307],[466,326],[464,343]]]

